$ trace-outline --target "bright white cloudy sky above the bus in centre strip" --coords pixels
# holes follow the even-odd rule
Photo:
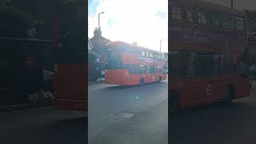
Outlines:
[[[89,0],[88,36],[94,36],[98,14],[102,36],[111,41],[137,42],[151,50],[168,51],[168,0]]]

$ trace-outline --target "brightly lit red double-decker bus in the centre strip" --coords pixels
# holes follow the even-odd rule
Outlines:
[[[166,80],[165,54],[126,42],[110,42],[106,50],[106,84],[135,86]]]

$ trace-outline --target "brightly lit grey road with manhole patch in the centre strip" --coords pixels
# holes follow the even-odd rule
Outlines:
[[[167,144],[168,82],[89,86],[90,144]]]

